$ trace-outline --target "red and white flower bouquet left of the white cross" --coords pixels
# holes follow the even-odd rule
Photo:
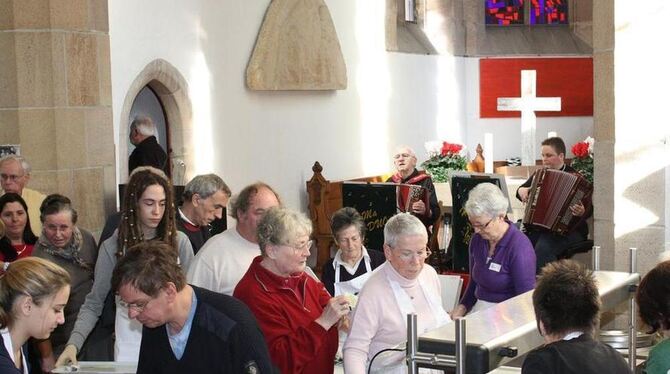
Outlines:
[[[461,153],[463,145],[448,142],[431,141],[424,144],[428,160],[421,166],[433,178],[433,182],[448,182],[455,170],[465,170],[467,160]]]

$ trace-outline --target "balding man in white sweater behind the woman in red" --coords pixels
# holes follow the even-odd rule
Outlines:
[[[210,291],[233,294],[253,259],[261,254],[256,231],[265,212],[279,206],[279,195],[267,184],[257,182],[240,191],[232,201],[234,229],[211,237],[188,269],[189,283]]]

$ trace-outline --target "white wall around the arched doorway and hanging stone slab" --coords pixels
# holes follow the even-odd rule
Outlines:
[[[466,140],[464,60],[387,53],[385,0],[326,1],[348,89],[248,90],[244,72],[269,3],[110,1],[117,142],[128,88],[157,58],[189,84],[197,172],[220,174],[233,191],[263,180],[293,208],[306,210],[305,182],[316,160],[326,178],[352,178],[388,172],[396,144],[409,144],[425,158],[427,140]]]

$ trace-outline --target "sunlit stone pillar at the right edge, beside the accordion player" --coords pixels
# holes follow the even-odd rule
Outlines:
[[[665,243],[665,172],[670,78],[663,35],[670,5],[594,0],[595,240],[603,269],[628,269],[638,248],[646,273]]]

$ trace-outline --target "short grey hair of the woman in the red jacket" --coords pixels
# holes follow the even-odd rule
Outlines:
[[[268,245],[291,245],[299,236],[311,234],[312,221],[305,214],[284,207],[272,207],[258,223],[256,235],[261,254],[265,256]]]

